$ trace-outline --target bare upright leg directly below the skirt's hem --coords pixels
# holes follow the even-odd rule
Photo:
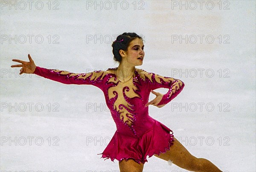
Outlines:
[[[143,166],[143,163],[139,164],[133,159],[119,161],[120,172],[142,172]]]

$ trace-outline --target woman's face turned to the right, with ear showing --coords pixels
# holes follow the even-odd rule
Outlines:
[[[128,65],[142,65],[145,56],[143,40],[140,38],[134,39],[130,42],[127,51],[120,50],[120,54],[122,56],[122,61]],[[138,59],[139,57],[142,57],[142,59]]]

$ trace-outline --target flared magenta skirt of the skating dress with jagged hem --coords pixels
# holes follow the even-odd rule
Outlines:
[[[101,158],[105,158],[104,161],[106,159],[111,159],[113,162],[115,159],[118,161],[133,159],[138,164],[145,164],[145,162],[148,162],[147,156],[150,158],[154,154],[160,155],[165,153],[174,144],[173,132],[168,127],[157,122],[152,129],[148,130],[140,139],[127,138],[124,135],[120,136],[116,132],[106,149],[97,155],[102,155]],[[170,134],[170,131],[172,134]],[[134,141],[135,139],[137,140],[136,142]],[[118,145],[122,147],[118,147]]]

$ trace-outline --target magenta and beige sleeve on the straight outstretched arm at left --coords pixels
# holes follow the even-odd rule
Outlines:
[[[90,73],[71,73],[65,70],[46,69],[37,66],[34,74],[63,84],[94,85],[102,89],[105,71],[95,70]]]

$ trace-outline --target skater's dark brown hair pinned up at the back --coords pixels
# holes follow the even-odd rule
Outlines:
[[[137,35],[135,33],[130,33],[130,32],[128,32],[128,33],[125,32],[125,33],[119,35],[116,38],[116,41],[114,41],[111,45],[113,47],[113,51],[112,51],[114,54],[113,59],[117,62],[121,62],[122,56],[119,54],[119,51],[120,50],[127,51],[130,42],[136,38],[142,39],[142,37],[140,37],[139,35]],[[123,39],[123,41],[119,42],[122,39]]]

